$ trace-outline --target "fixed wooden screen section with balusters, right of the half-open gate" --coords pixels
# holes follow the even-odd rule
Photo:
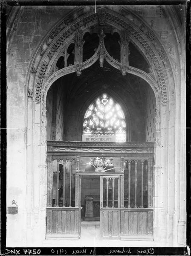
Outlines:
[[[124,161],[124,208],[121,239],[153,240],[152,159]]]

